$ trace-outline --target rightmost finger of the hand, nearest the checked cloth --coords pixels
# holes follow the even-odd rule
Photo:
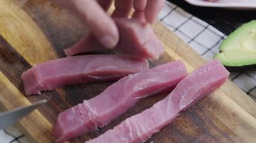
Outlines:
[[[164,0],[148,0],[145,8],[145,17],[148,23],[153,23],[164,6]]]

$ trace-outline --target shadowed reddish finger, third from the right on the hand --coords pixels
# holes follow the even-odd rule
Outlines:
[[[134,0],[137,1],[137,0]],[[128,17],[131,8],[133,7],[133,0],[115,0],[115,11],[113,17]]]

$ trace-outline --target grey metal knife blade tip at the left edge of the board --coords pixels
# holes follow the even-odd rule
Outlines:
[[[31,111],[36,109],[38,106],[46,103],[46,99],[33,103],[25,107],[18,107],[11,111],[5,111],[0,113],[0,130],[17,122],[20,118],[28,115]]]

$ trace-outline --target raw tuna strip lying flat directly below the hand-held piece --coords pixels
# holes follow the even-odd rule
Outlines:
[[[86,55],[59,58],[38,64],[22,74],[26,95],[40,94],[78,83],[116,81],[149,68],[147,60],[116,55]]]

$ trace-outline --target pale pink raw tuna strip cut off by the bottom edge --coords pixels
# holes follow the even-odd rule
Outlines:
[[[172,93],[150,109],[127,118],[113,130],[89,142],[144,142],[170,124],[181,111],[220,87],[228,75],[224,66],[213,60],[183,79]]]

